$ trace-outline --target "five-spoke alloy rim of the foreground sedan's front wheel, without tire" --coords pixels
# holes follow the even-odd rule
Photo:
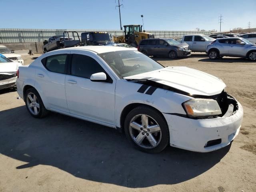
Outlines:
[[[162,139],[159,124],[146,114],[138,114],[132,118],[129,124],[129,132],[134,142],[146,149],[155,148]]]

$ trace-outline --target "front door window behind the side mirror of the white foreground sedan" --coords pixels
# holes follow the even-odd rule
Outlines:
[[[92,74],[99,72],[106,73],[96,60],[86,55],[73,54],[71,75],[90,79]]]

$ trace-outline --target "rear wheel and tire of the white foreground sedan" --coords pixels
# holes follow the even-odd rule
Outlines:
[[[24,97],[29,114],[35,118],[43,118],[48,114],[42,99],[35,88],[29,88]]]

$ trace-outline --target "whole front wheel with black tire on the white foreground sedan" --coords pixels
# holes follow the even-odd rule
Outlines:
[[[148,106],[138,106],[128,113],[124,132],[135,148],[146,153],[159,153],[170,143],[166,120],[157,110]]]

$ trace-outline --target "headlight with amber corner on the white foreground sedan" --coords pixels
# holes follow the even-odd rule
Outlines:
[[[220,106],[213,99],[192,99],[184,102],[184,108],[188,116],[212,116],[221,114]]]

